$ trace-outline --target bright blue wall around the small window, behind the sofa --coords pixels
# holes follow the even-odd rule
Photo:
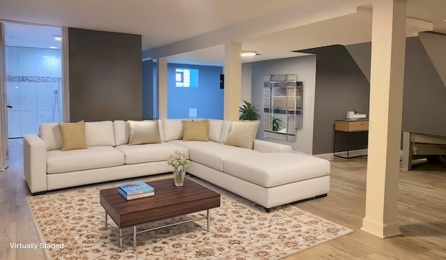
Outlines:
[[[175,86],[176,68],[199,70],[198,88]],[[167,118],[189,118],[189,109],[197,109],[197,118],[223,119],[224,90],[220,89],[220,74],[217,66],[194,66],[169,63],[167,65]]]

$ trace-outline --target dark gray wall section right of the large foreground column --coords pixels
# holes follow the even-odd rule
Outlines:
[[[418,37],[406,40],[402,129],[446,135],[446,87]]]

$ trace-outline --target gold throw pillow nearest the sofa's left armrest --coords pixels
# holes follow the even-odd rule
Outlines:
[[[62,137],[62,151],[85,149],[85,123],[59,123]]]

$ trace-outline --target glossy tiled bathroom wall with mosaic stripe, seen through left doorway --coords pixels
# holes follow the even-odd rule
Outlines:
[[[6,46],[9,137],[62,121],[61,50]]]

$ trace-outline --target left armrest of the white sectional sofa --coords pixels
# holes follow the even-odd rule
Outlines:
[[[23,170],[31,193],[47,190],[47,146],[38,135],[23,136]]]

